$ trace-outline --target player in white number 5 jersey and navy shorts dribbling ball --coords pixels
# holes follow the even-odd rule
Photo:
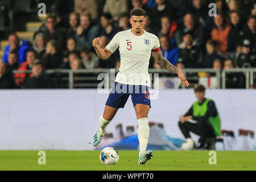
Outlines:
[[[150,87],[148,64],[151,53],[161,68],[177,73],[182,84],[189,86],[181,70],[164,59],[160,51],[158,37],[144,30],[145,16],[146,12],[143,9],[131,10],[131,29],[118,32],[105,49],[99,46],[100,38],[95,38],[92,42],[98,57],[102,60],[108,59],[118,47],[121,58],[119,73],[115,78],[115,84],[109,94],[108,101],[106,101],[104,114],[99,118],[100,129],[94,135],[92,144],[97,146],[101,142],[117,110],[125,106],[131,95],[139,124],[139,164],[146,163],[153,155],[151,150],[146,151],[149,135],[147,114],[151,107],[150,93],[148,92],[148,87]],[[127,89],[129,89],[127,93],[119,92]]]

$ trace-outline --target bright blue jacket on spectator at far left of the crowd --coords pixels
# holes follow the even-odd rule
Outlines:
[[[23,62],[26,61],[28,48],[29,48],[29,42],[27,40],[20,40],[19,49],[18,49],[18,55],[19,55],[18,63],[19,64],[22,64]],[[3,54],[3,63],[9,64],[8,63],[9,53],[10,53],[10,44],[5,47],[5,53]]]

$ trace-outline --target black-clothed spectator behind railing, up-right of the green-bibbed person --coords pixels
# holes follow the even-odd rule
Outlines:
[[[233,60],[224,61],[224,69],[233,69]],[[241,89],[245,88],[245,76],[243,73],[226,73],[226,88],[227,89]]]

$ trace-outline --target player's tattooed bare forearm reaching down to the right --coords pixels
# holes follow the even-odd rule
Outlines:
[[[156,63],[163,69],[166,69],[169,72],[173,72],[176,73],[181,81],[181,84],[183,86],[189,86],[189,82],[187,81],[187,79],[185,78],[185,76],[183,75],[182,71],[175,67],[175,65],[171,64],[167,59],[165,59],[162,55],[161,51],[158,52],[152,52],[153,57],[155,58]]]

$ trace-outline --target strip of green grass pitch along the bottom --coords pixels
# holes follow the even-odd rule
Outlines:
[[[145,165],[138,165],[138,151],[119,152],[115,165],[101,164],[100,151],[46,151],[46,165],[38,164],[39,151],[0,151],[0,170],[256,170],[255,151],[216,151],[217,164],[210,165],[209,151],[153,151]]]

